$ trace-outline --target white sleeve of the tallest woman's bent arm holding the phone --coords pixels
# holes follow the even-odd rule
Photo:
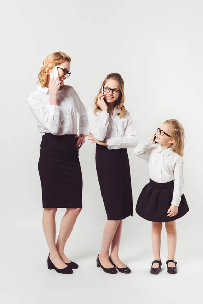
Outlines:
[[[33,116],[38,122],[52,134],[57,134],[60,128],[60,107],[58,105],[49,105],[48,110],[40,101],[30,96],[28,103]]]

